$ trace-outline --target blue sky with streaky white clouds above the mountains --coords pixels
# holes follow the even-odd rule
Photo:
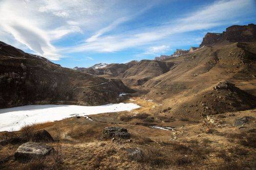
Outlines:
[[[255,0],[0,0],[0,41],[63,67],[126,63],[255,24],[255,9]]]

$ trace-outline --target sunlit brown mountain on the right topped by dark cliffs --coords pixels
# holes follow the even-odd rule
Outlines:
[[[255,25],[231,26],[222,34],[207,33],[200,48],[164,60],[175,66],[140,89],[149,91],[146,98],[172,108],[169,116],[191,118],[254,108],[255,30]],[[214,86],[223,81],[237,88],[216,91]]]

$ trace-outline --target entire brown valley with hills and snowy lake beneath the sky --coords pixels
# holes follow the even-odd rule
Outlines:
[[[74,69],[0,42],[0,168],[253,169],[255,35],[231,26],[157,60]],[[19,161],[43,129],[57,152]]]

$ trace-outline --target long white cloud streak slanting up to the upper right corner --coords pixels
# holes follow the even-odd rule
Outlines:
[[[243,16],[252,3],[252,0],[217,1],[211,5],[201,7],[183,18],[177,18],[164,26],[131,30],[125,32],[125,34],[106,36],[102,36],[101,33],[96,34],[89,38],[86,43],[72,46],[67,52],[117,52],[125,48],[151,44],[177,33],[225,25],[231,23],[232,19]]]

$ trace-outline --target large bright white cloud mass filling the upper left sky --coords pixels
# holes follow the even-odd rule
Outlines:
[[[12,35],[13,40],[25,44],[37,54],[58,60],[61,57],[61,48],[55,47],[53,41],[72,33],[83,35],[85,32],[95,32],[102,25],[114,21],[109,27],[97,31],[97,34],[88,38],[88,41],[93,41],[124,22],[130,9],[120,10],[120,2],[3,0],[0,2],[0,31],[6,33],[5,36]]]

